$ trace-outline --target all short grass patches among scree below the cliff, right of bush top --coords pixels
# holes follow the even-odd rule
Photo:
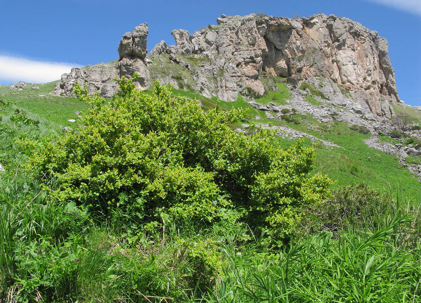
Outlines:
[[[277,83],[282,85],[283,83]],[[266,96],[257,98],[256,101],[261,104],[267,104],[275,101],[282,104],[283,99],[288,100],[288,92],[269,91]],[[209,109],[217,106],[221,110],[229,110],[233,108],[241,108],[250,112],[250,120],[246,122],[238,121],[232,125],[232,128],[240,127],[244,123],[269,123],[270,125],[283,125],[303,133],[308,133],[316,138],[333,142],[339,146],[326,148],[320,141],[317,143],[316,162],[314,170],[328,174],[333,180],[337,181],[337,186],[351,185],[353,183],[368,183],[374,188],[389,192],[390,189],[396,192],[398,189],[405,197],[413,198],[414,202],[421,201],[420,181],[415,175],[411,174],[407,168],[399,164],[396,157],[386,154],[383,151],[370,148],[364,143],[364,139],[370,137],[369,134],[363,134],[359,131],[351,130],[346,122],[330,122],[321,124],[309,115],[302,116],[295,114],[294,117],[299,123],[286,122],[278,119],[268,119],[265,112],[259,111],[251,107],[242,96],[234,102],[225,102],[216,98],[208,99],[199,94],[192,92],[184,92],[182,90],[173,90],[174,94],[186,96],[188,98],[197,98],[201,101],[203,108]],[[273,97],[275,96],[275,98]],[[310,104],[318,102],[311,96],[307,96]],[[316,105],[320,105],[317,103]],[[399,106],[399,105],[398,105]],[[395,106],[396,107],[396,106]],[[411,117],[418,117],[416,111],[403,108],[407,113],[411,113]],[[292,112],[291,112],[292,113]],[[256,116],[258,119],[256,119]],[[301,122],[302,121],[302,122]],[[415,121],[415,120],[414,120]],[[379,136],[381,140],[394,141],[389,137]],[[295,140],[279,138],[280,146],[288,148],[294,144]],[[396,143],[396,142],[395,142]],[[309,139],[308,146],[313,144]],[[421,157],[414,157],[413,161],[421,161]]]

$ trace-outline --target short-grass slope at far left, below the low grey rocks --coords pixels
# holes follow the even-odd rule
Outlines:
[[[69,119],[76,119],[73,112],[83,112],[87,109],[87,104],[77,98],[67,98],[53,96],[50,94],[54,90],[57,81],[45,84],[34,84],[39,89],[33,90],[31,84],[23,90],[10,90],[9,86],[0,86],[0,98],[9,100],[16,108],[24,110],[37,117],[44,118],[57,126],[72,126],[74,123]],[[39,95],[45,95],[40,97]]]

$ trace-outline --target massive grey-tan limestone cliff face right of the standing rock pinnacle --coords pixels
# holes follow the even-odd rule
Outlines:
[[[328,79],[329,85],[319,88],[327,97],[357,102],[380,116],[390,117],[389,102],[399,102],[387,41],[357,22],[324,14],[301,19],[251,14],[217,23],[193,35],[173,30],[176,45],[165,47],[161,41],[156,54],[210,58],[195,80],[225,101],[250,88],[263,94],[260,78],[267,72],[297,85]]]

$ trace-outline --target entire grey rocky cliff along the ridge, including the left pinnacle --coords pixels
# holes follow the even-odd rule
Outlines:
[[[387,41],[357,22],[324,14],[301,19],[251,14],[222,15],[217,24],[193,35],[173,30],[176,45],[161,41],[150,58],[148,28],[141,24],[123,35],[117,62],[72,69],[55,94],[69,96],[75,82],[87,82],[89,93],[109,97],[115,76],[137,72],[139,89],[152,78],[224,101],[276,89],[262,78],[283,77],[294,87],[317,86],[333,104],[356,103],[378,116],[391,117],[389,102],[399,102]]]

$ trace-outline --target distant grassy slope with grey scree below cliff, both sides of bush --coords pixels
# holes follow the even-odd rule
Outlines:
[[[249,110],[250,120],[235,122],[231,124],[232,129],[252,133],[256,126],[277,128],[279,144],[283,147],[290,146],[297,138],[309,138],[308,144],[318,144],[315,169],[337,180],[338,186],[366,182],[375,188],[389,191],[390,184],[393,191],[400,188],[405,196],[414,197],[418,201],[421,199],[418,191],[420,186],[418,176],[411,174],[408,170],[409,167],[413,173],[419,174],[421,157],[406,156],[404,158],[402,157],[403,150],[396,148],[400,144],[404,148],[405,145],[411,144],[408,140],[417,138],[419,132],[413,125],[419,123],[418,110],[404,104],[396,105],[397,113],[405,114],[408,119],[407,130],[400,134],[400,137],[390,138],[388,132],[389,134],[394,132],[393,135],[398,132],[398,129],[393,126],[394,119],[370,117],[368,114],[357,114],[349,107],[333,106],[330,101],[320,97],[315,88],[313,94],[310,91],[295,89],[283,82],[285,81],[283,78],[268,75],[263,81],[274,82],[277,90],[267,90],[264,96],[256,99],[243,98],[239,95],[234,102],[220,101],[215,97],[206,98],[193,91],[180,89],[174,89],[173,93],[197,98],[204,110],[216,106],[222,110],[231,108]],[[0,91],[1,95],[4,95],[3,100],[11,101],[13,109],[33,114],[36,120],[44,118],[45,122],[51,121],[53,125],[47,127],[48,132],[48,128],[57,130],[60,125],[75,125],[75,122],[67,120],[77,120],[78,114],[75,113],[87,109],[87,105],[77,98],[52,96],[51,90],[54,83],[35,85],[39,87],[39,90],[34,90],[29,85],[23,90],[10,90],[8,86],[2,86]],[[149,90],[146,90],[146,93],[149,93]],[[354,108],[354,110],[358,112],[358,109]],[[45,122],[41,125],[45,125]],[[412,130],[409,135],[411,128],[415,130]],[[374,141],[376,144],[364,143],[364,140],[368,138],[376,138]],[[328,144],[326,146],[322,141],[331,144],[326,143]],[[384,145],[382,150],[373,148],[381,148],[382,144]],[[416,144],[412,143],[412,146]],[[405,162],[402,161],[403,159]],[[408,167],[403,165],[408,165]],[[412,167],[415,168],[412,169]]]

